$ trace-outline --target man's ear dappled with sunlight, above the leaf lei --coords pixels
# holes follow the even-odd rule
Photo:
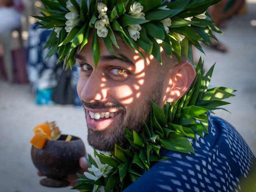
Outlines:
[[[165,77],[165,101],[174,102],[182,98],[193,83],[195,76],[195,69],[189,62],[182,62],[171,68]]]

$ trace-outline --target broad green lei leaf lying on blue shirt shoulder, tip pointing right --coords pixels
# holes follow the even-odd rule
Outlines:
[[[170,140],[160,139],[159,143],[163,148],[167,150],[178,151],[182,153],[194,153],[194,149],[191,143],[185,137],[171,138]]]

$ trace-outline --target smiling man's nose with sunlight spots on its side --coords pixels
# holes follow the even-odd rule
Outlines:
[[[92,72],[82,89],[81,99],[85,102],[92,102],[94,100],[103,100],[106,96],[107,88],[104,75]]]

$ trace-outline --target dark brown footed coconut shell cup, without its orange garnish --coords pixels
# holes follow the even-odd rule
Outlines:
[[[42,149],[31,148],[31,157],[36,168],[47,178],[40,184],[48,187],[66,187],[65,177],[80,170],[79,159],[85,156],[82,140],[76,136],[66,142],[67,135],[61,135],[56,141],[46,140]]]

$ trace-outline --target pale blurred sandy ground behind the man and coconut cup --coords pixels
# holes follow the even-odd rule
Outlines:
[[[232,113],[216,112],[240,132],[256,154],[256,1],[248,1],[248,14],[227,23],[219,40],[229,48],[227,54],[205,48],[206,69],[217,62],[212,84],[238,90],[226,108]],[[199,55],[199,53],[198,53]],[[69,188],[40,186],[40,177],[30,158],[32,128],[55,120],[62,133],[80,136],[86,142],[86,123],[82,108],[38,106],[28,85],[8,84],[0,80],[0,191],[68,192]]]

